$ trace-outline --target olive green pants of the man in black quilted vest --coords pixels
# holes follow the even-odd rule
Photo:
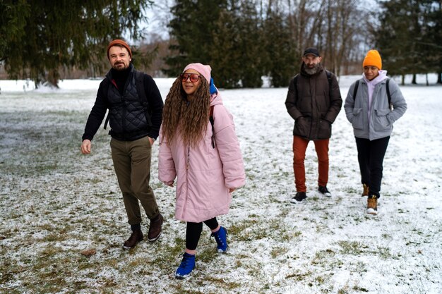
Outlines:
[[[152,155],[149,137],[135,141],[119,141],[112,138],[110,146],[129,224],[135,225],[142,221],[138,200],[148,218],[154,219],[160,211],[149,185]]]

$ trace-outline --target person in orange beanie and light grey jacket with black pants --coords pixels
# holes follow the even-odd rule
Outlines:
[[[362,78],[354,82],[345,99],[345,114],[352,123],[367,213],[378,213],[383,157],[393,123],[407,110],[398,85],[382,69],[381,55],[369,50],[362,63]]]

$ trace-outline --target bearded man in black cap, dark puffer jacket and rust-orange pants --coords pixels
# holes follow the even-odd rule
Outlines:
[[[318,155],[318,192],[331,197],[328,191],[328,142],[331,125],[342,106],[338,80],[325,71],[316,48],[307,48],[302,56],[301,73],[289,84],[285,106],[294,119],[293,170],[297,193],[291,202],[306,199],[304,159],[309,141],[313,140]]]

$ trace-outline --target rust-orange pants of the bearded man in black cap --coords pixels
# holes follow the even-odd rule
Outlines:
[[[316,154],[318,155],[318,185],[325,186],[328,182],[328,141],[314,140]],[[293,136],[293,171],[294,185],[297,192],[306,192],[306,169],[304,159],[309,140]]]

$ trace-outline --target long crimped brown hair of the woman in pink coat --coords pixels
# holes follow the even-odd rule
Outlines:
[[[176,140],[177,132],[184,145],[195,147],[203,140],[209,121],[210,92],[209,84],[201,78],[200,87],[193,94],[192,101],[187,99],[181,77],[174,81],[167,94],[162,111],[162,135],[168,144]]]

